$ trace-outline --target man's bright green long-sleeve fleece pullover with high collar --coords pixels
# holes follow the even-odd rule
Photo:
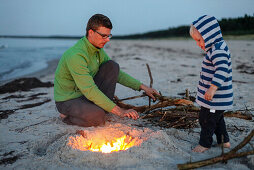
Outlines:
[[[80,39],[61,57],[54,81],[55,101],[66,101],[84,95],[97,106],[110,112],[115,103],[96,86],[93,77],[101,64],[110,60],[106,52],[94,47],[86,37]],[[120,70],[118,83],[139,90],[141,82]]]

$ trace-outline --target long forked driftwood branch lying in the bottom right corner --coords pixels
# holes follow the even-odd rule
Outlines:
[[[223,152],[220,156],[210,158],[210,159],[206,159],[206,160],[202,160],[202,161],[189,162],[189,163],[185,163],[185,164],[178,164],[177,167],[180,170],[194,169],[194,168],[199,168],[199,167],[203,167],[203,166],[207,166],[207,165],[216,164],[218,162],[226,162],[227,160],[233,159],[233,158],[239,158],[239,157],[244,157],[244,156],[247,156],[247,155],[253,155],[254,154],[254,148],[253,148],[253,145],[250,143],[253,136],[254,136],[254,129],[249,133],[249,135],[247,137],[244,138],[244,140],[241,143],[239,143],[235,148],[233,148],[232,150],[230,150],[227,153]],[[238,152],[246,144],[250,144],[252,150]]]

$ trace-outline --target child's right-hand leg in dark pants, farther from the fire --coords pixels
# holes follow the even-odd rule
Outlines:
[[[218,144],[224,143],[225,147],[230,147],[229,136],[228,136],[226,125],[225,125],[223,112],[224,112],[224,110],[217,110],[216,111],[216,114],[220,115],[220,117],[217,122],[217,127],[216,127],[214,133],[216,134]],[[222,136],[223,136],[223,141],[222,141]]]

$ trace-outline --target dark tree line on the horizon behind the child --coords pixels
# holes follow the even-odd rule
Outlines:
[[[219,24],[223,35],[246,35],[254,34],[254,14],[245,14],[238,18],[222,18]],[[170,37],[189,37],[189,25],[169,28],[167,30],[157,30],[143,34],[132,34],[125,36],[113,36],[113,39],[152,39]]]

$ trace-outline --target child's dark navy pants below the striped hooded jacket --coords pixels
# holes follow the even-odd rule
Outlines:
[[[201,126],[199,144],[201,146],[210,148],[213,143],[214,133],[218,144],[229,142],[223,112],[224,110],[216,110],[215,113],[211,113],[210,109],[201,107],[199,113],[199,124]]]

